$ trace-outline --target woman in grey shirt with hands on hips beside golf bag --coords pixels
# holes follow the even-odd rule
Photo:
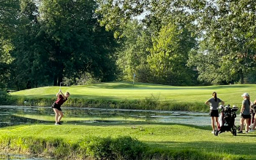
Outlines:
[[[206,101],[206,105],[208,105],[210,107],[210,116],[211,116],[211,127],[212,127],[212,132],[214,133],[214,129],[215,129],[215,122],[217,124],[217,127],[219,128],[219,121],[218,121],[218,117],[219,117],[219,112],[218,112],[218,106],[219,103],[222,103],[222,105],[224,105],[224,102],[222,100],[220,100],[217,97],[217,92],[213,92],[212,93],[212,97]]]

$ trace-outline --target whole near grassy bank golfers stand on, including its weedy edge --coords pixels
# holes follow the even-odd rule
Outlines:
[[[111,137],[110,137],[111,136]],[[2,150],[56,159],[256,159],[256,133],[177,124],[34,124],[0,129]]]

